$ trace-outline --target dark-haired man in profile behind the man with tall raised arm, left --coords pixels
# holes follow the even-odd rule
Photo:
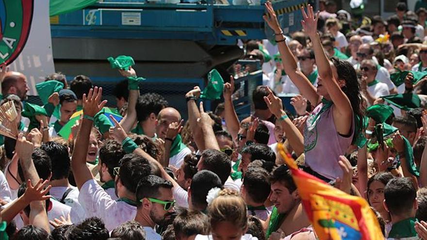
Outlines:
[[[117,200],[115,191],[114,169],[120,164],[120,159],[126,155],[121,144],[113,140],[108,140],[99,149],[99,180],[104,183],[101,187],[110,195],[111,199]]]

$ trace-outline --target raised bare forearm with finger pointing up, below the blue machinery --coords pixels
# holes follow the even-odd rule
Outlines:
[[[230,82],[224,84],[224,119],[227,127],[227,131],[229,131],[233,141],[237,139],[237,133],[240,129],[239,118],[237,117],[237,113],[234,110],[233,100],[231,99],[231,95],[234,92],[234,78],[230,76]]]

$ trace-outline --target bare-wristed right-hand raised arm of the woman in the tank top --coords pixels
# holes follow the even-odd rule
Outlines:
[[[308,5],[307,14],[304,8],[301,8],[301,12],[304,20],[301,21],[304,31],[309,35],[314,49],[314,56],[316,59],[317,71],[322,85],[326,87],[330,100],[334,103],[334,119],[335,126],[339,133],[348,134],[352,123],[352,108],[350,100],[341,90],[340,84],[344,84],[345,80],[337,79],[338,76],[334,76],[332,73],[331,63],[322,47],[320,42],[320,36],[317,33],[317,20],[319,19],[319,13],[314,16],[313,7]],[[339,117],[341,121],[337,121],[336,117]]]

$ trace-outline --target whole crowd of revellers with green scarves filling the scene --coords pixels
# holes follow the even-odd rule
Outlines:
[[[384,238],[427,240],[427,3],[398,3],[386,21],[352,3],[351,14],[330,0],[302,8],[291,36],[266,3],[275,41],[243,44],[263,85],[241,121],[241,66],[214,112],[198,86],[182,96],[186,121],[141,95],[131,66],[115,109],[88,77],[61,73],[38,85],[44,106],[31,104],[26,77],[3,66],[0,106],[17,116],[0,117],[0,239],[315,240],[283,146],[303,171],[365,198]],[[278,93],[296,95],[295,114]]]

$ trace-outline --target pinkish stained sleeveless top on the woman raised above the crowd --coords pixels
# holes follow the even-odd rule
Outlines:
[[[304,128],[305,164],[314,172],[334,180],[343,176],[338,164],[339,156],[344,155],[354,134],[354,118],[349,136],[342,136],[335,128],[331,101],[322,99],[307,119]]]

